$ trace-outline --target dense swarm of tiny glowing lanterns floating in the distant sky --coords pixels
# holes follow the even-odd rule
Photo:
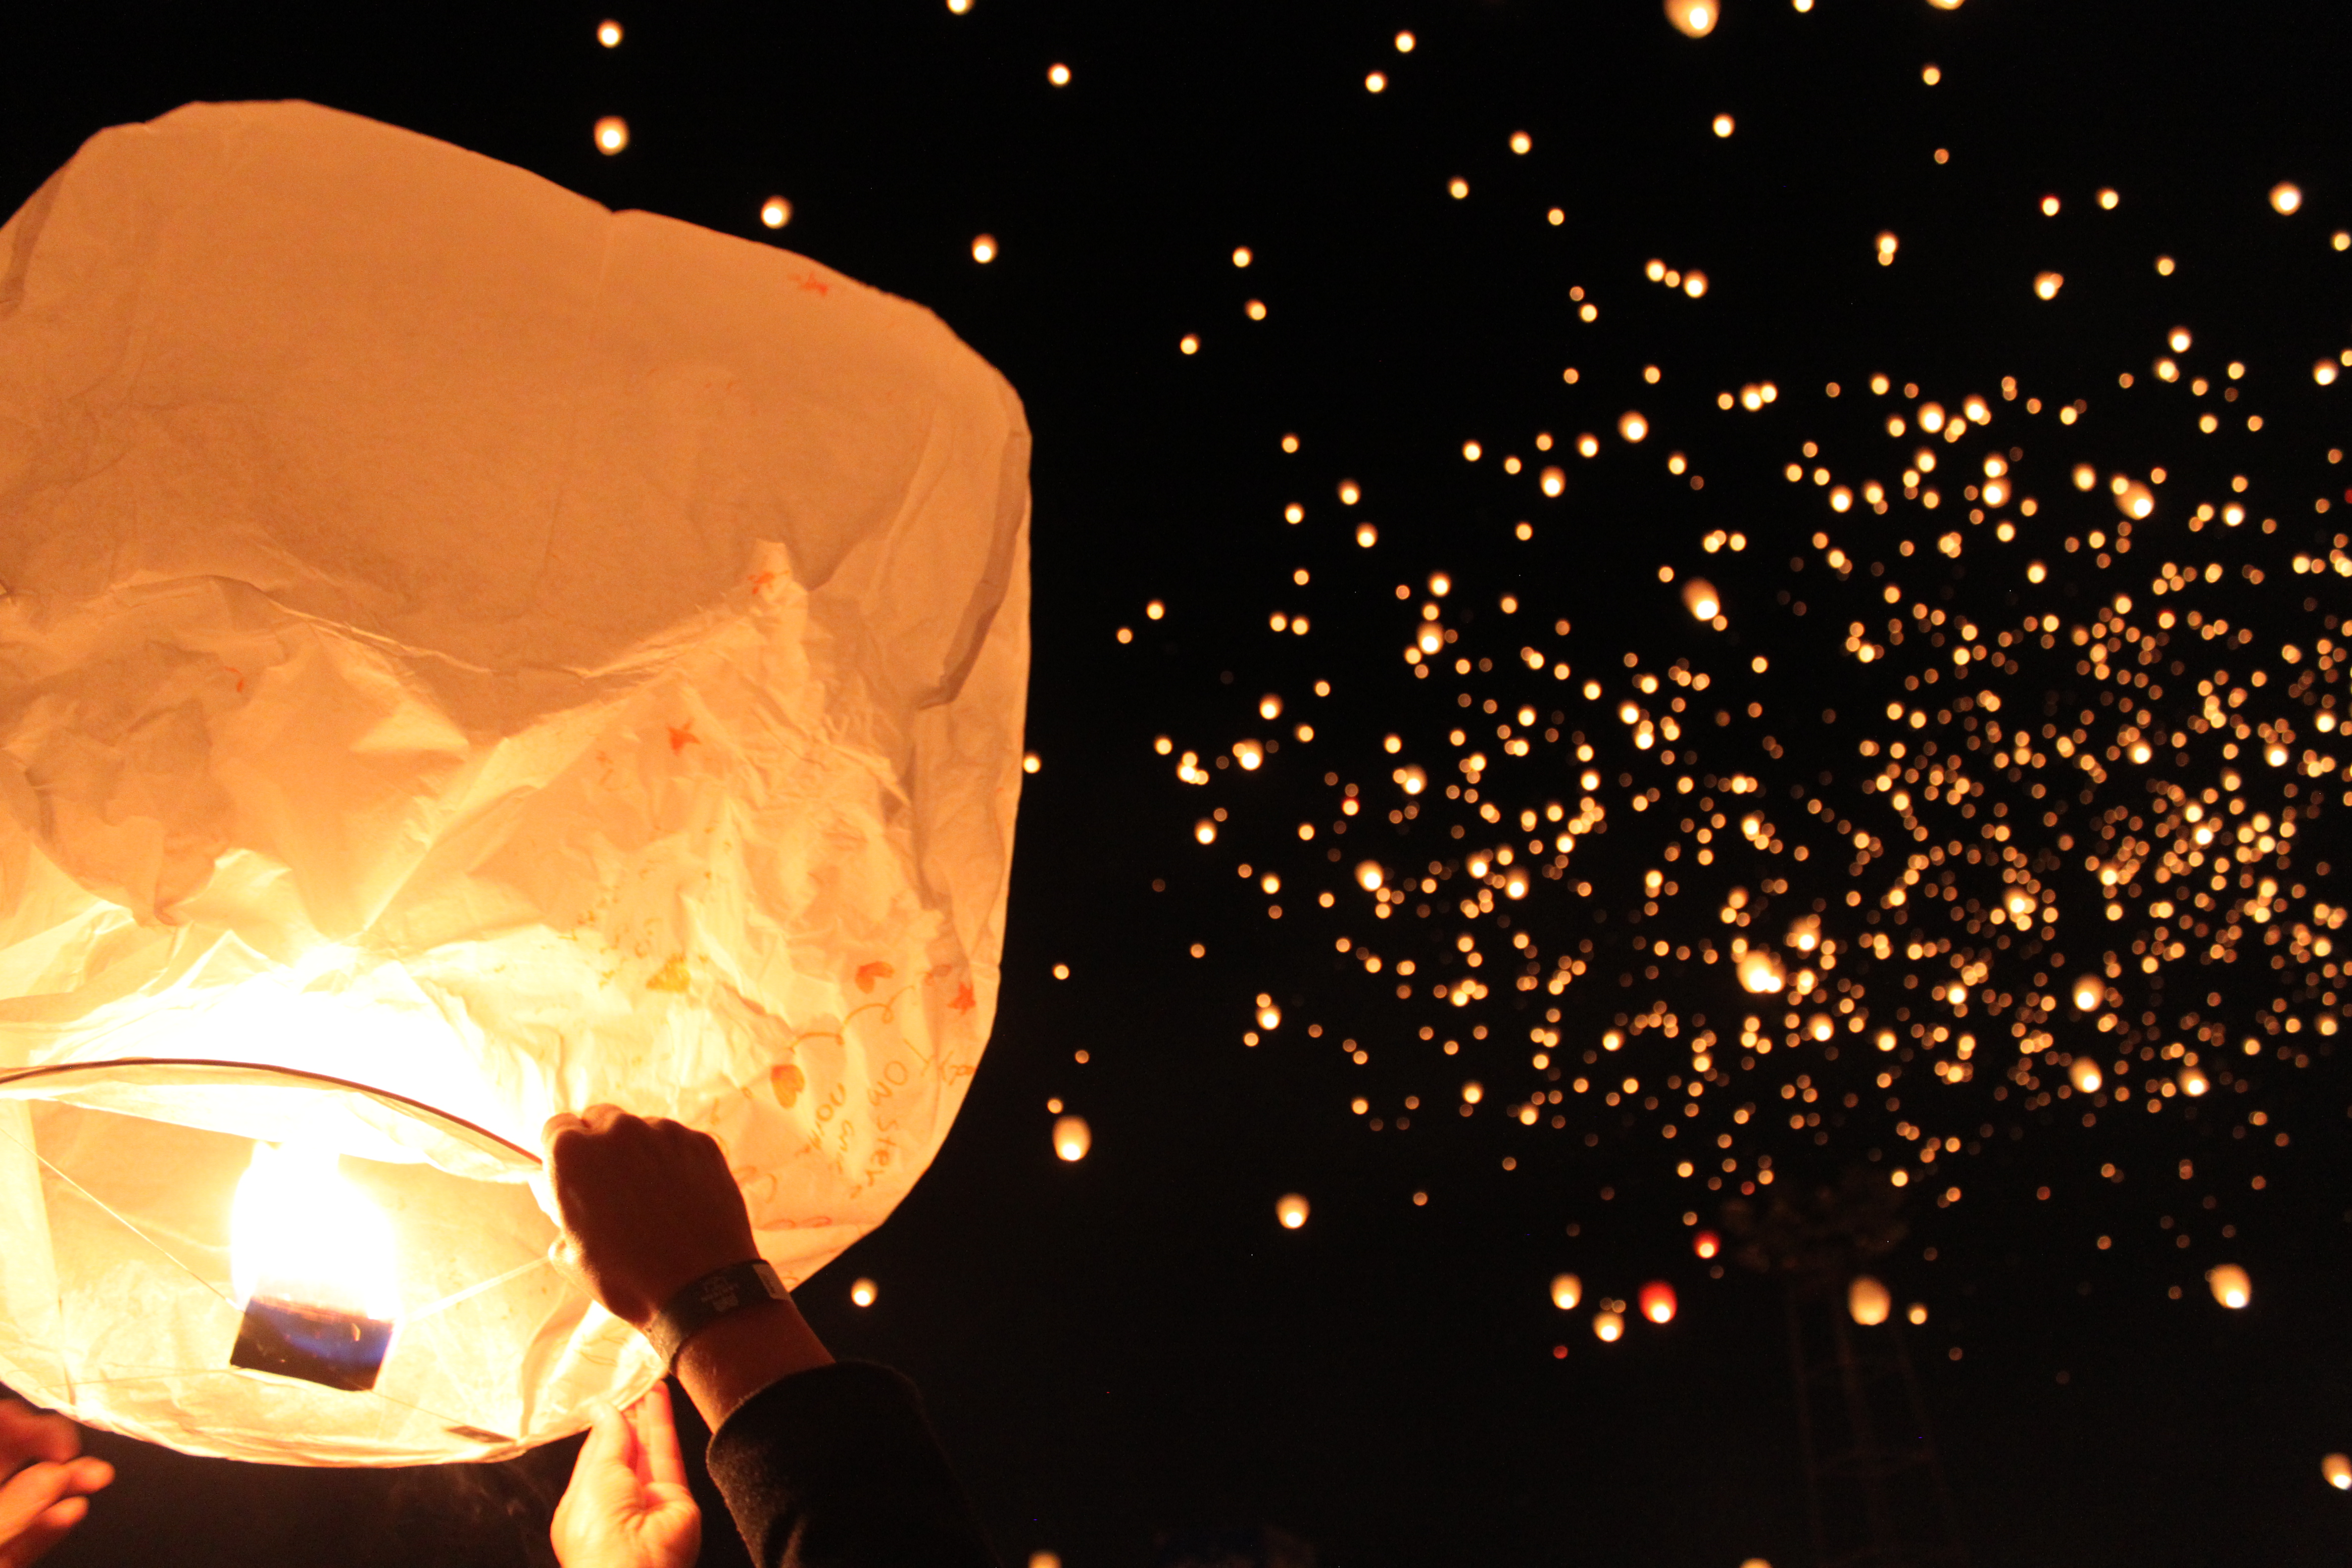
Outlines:
[[[1691,38],[1719,21],[1705,0],[1670,0],[1665,14]],[[2096,193],[2100,209],[2119,202]],[[2303,202],[2281,186],[2270,205],[2293,216]],[[2060,200],[2042,209],[2056,216]],[[1879,263],[1898,249],[1891,230],[1877,237]],[[1708,292],[1663,259],[1646,275]],[[2063,287],[2034,275],[2044,301]],[[1583,289],[1573,299],[1592,320]],[[1538,604],[1461,571],[1395,581],[1378,552],[1317,567],[1315,581],[1341,583],[1317,646],[1357,691],[1390,693],[1378,750],[1327,736],[1277,757],[1272,731],[1242,717],[1237,733],[1195,738],[1178,766],[1188,816],[1192,790],[1216,802],[1190,837],[1242,860],[1268,917],[1317,922],[1319,950],[1343,954],[1350,976],[1341,990],[1284,976],[1272,990],[1312,994],[1305,1027],[1256,1016],[1244,1044],[1338,1046],[1369,1131],[1486,1135],[1505,1171],[1599,1150],[1592,1159],[1651,1161],[1722,1197],[1752,1197],[1776,1168],[1844,1145],[1950,1206],[1964,1199],[1950,1173],[1997,1138],[2049,1124],[2096,1135],[2129,1114],[2185,1145],[2204,1107],[2230,1145],[2204,1166],[2213,1182],[2232,1171],[2230,1215],[2241,1215],[2263,1190],[2263,1154],[2288,1138],[2277,1074],[2333,1048],[2321,1041],[2352,994],[2336,954],[2345,907],[2305,853],[2317,813],[2352,809],[2333,738],[2352,639],[2298,618],[2305,588],[2265,581],[2249,548],[2298,508],[2326,515],[2328,494],[2256,505],[2270,484],[2216,475],[2201,454],[2098,461],[2140,449],[2140,430],[2180,430],[2173,404],[2143,416],[2169,388],[2204,409],[2209,433],[2223,390],[2227,414],[2260,430],[2241,390],[2284,402],[2296,381],[2204,364],[2185,327],[2157,324],[2150,341],[2143,386],[2157,390],[2131,393],[2136,369],[2065,390],[2002,374],[1929,390],[1870,371],[1795,393],[1809,440],[1771,470],[1818,498],[1809,550],[1778,583],[1717,585],[1668,541],[1658,581],[1691,628],[1679,651],[1578,639],[1581,607],[1557,581]],[[2307,390],[2345,364],[2352,350],[2321,360]],[[1501,468],[1534,482],[1529,505],[1564,501],[1564,470],[1529,447],[1642,463],[1658,416],[1611,409],[1590,371],[1562,383],[1616,442],[1454,437],[1479,484]],[[2098,440],[2079,428],[2093,393]],[[1788,430],[1792,400],[1773,383],[1717,397],[1745,414],[1771,402]],[[1668,440],[1684,447],[1668,475],[1693,487],[1686,447],[1724,444],[1705,428]],[[1740,482],[1745,449],[1729,444],[1710,473]],[[2086,477],[2025,480],[2053,461],[2056,475]],[[1338,494],[1355,505],[1359,484]],[[1531,538],[1526,522],[1517,538]],[[1378,534],[1362,524],[1355,543],[1371,550]],[[1698,543],[1740,550],[1745,534],[1719,527]],[[2347,545],[2317,543],[2296,574],[2352,576]],[[1771,588],[1778,604],[1802,595],[1811,616],[1785,618]],[[2267,611],[2246,614],[2249,599]],[[1715,637],[1743,625],[1752,649],[1766,623],[1811,646],[1766,658]],[[1879,705],[1825,712],[1806,691],[1825,658],[1849,661]],[[1341,835],[1374,827],[1381,853],[1345,853]],[[1585,870],[1599,832],[1618,835],[1616,853]],[[1628,849],[1642,860],[1632,875]],[[1458,1095],[1458,1117],[1416,1121],[1439,1103],[1416,1079],[1463,1053],[1484,1063],[1482,1084]],[[1371,1060],[1385,1081],[1359,1088]],[[2216,1220],[2218,1237],[2194,1244],[2234,1241],[2237,1220]],[[2187,1227],[2166,1241],[2194,1246]],[[2234,1262],[2209,1284],[2225,1307],[2251,1300]],[[1661,1288],[1635,1316],[1675,1314]],[[1562,1274],[1555,1305],[1578,1300]],[[1893,1298],[1856,1279],[1849,1309],[1882,1324]],[[1613,1340],[1625,1316],[1604,1300],[1592,1328]]]

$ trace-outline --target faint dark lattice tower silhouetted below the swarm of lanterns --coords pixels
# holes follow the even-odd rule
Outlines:
[[[1853,1321],[1856,1274],[1905,1237],[1903,1197],[1875,1171],[1835,1187],[1724,1204],[1733,1258],[1788,1286],[1806,1521],[1818,1568],[1964,1568],[1900,1314]]]

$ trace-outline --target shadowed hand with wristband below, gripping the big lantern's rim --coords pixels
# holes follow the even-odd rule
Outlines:
[[[757,1258],[743,1192],[703,1133],[590,1105],[548,1117],[539,1138],[564,1251],[621,1321],[644,1328],[703,1274]]]

